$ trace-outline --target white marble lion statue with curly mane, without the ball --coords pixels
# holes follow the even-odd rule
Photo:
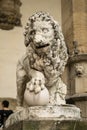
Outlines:
[[[18,106],[23,106],[27,83],[36,94],[46,86],[49,104],[65,104],[67,88],[60,76],[68,54],[61,27],[48,13],[37,12],[28,19],[24,36],[26,53],[17,64]]]

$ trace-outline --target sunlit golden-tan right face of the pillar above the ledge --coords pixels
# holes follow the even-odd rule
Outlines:
[[[87,0],[72,0],[73,40],[78,42],[79,53],[87,53]]]

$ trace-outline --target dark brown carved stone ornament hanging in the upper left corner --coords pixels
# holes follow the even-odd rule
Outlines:
[[[20,0],[0,1],[0,28],[9,30],[21,26]]]

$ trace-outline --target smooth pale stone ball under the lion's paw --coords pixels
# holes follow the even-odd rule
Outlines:
[[[28,106],[44,106],[49,103],[49,92],[46,87],[38,93],[31,92],[26,88],[24,100]]]

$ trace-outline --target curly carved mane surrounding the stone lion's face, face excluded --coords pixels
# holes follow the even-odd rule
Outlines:
[[[35,21],[50,22],[54,30],[54,39],[50,43],[50,52],[43,54],[43,56],[32,48],[33,37],[30,31]],[[67,48],[60,25],[48,13],[37,12],[29,18],[24,36],[30,67],[43,72],[49,81],[58,78],[64,71],[68,59]]]

